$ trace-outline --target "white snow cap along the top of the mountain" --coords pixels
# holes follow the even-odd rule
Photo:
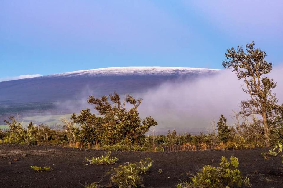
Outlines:
[[[190,68],[190,67],[109,67],[90,70],[80,70],[67,73],[47,75],[46,77],[59,76],[106,76],[106,75],[176,75],[188,73],[205,73],[218,71],[219,69]]]

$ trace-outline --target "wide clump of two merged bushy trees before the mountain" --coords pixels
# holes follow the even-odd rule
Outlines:
[[[88,103],[94,104],[99,116],[92,114],[90,109],[82,110],[79,115],[72,115],[74,123],[80,124],[81,130],[78,139],[84,143],[102,143],[103,145],[115,145],[121,142],[138,142],[149,131],[156,126],[157,122],[152,117],[139,118],[138,107],[142,99],[135,99],[131,95],[121,102],[120,95],[114,93],[107,96],[95,98],[90,96]],[[126,103],[133,107],[127,109]]]

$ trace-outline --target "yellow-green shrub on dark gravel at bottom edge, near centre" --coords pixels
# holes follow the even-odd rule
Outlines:
[[[110,181],[119,188],[142,186],[140,175],[146,173],[151,166],[152,161],[149,157],[140,162],[119,165],[117,168],[112,169]]]

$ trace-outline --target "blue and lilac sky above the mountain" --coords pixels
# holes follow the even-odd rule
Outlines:
[[[255,40],[283,63],[282,1],[0,1],[0,81],[121,66],[222,68]]]

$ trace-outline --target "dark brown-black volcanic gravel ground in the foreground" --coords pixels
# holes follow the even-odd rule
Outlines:
[[[281,157],[264,160],[261,152],[268,149],[238,151],[197,152],[112,152],[119,157],[116,165],[84,165],[85,157],[98,157],[106,152],[64,148],[60,146],[0,145],[0,187],[83,187],[99,181],[104,174],[119,164],[139,161],[144,157],[154,160],[152,168],[144,174],[145,187],[176,187],[177,182],[188,180],[186,173],[195,173],[203,165],[217,166],[221,156],[238,157],[244,176],[250,178],[252,187],[282,188],[283,174]],[[25,155],[24,155],[25,154]],[[53,171],[35,172],[30,168],[52,166]],[[162,169],[159,174],[158,170]],[[109,177],[104,177],[107,184]]]

